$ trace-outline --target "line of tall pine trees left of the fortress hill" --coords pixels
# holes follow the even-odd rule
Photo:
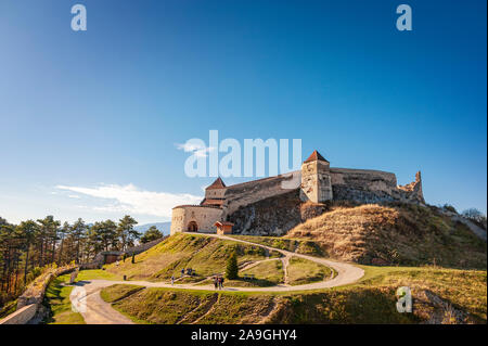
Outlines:
[[[138,240],[145,243],[163,236],[152,227],[141,238],[137,223],[128,215],[118,222],[92,225],[81,218],[62,225],[53,216],[12,225],[0,217],[0,307],[47,266],[88,262],[101,251],[125,251]]]

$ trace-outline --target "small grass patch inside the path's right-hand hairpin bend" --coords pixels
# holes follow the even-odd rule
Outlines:
[[[290,259],[287,272],[288,284],[291,285],[301,285],[328,280],[332,274],[331,268],[299,257],[292,257]]]

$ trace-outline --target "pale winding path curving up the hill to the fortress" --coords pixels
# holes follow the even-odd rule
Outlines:
[[[218,234],[202,234],[202,233],[191,233],[198,235],[206,235],[211,238],[219,238],[222,240],[228,240],[232,242],[240,242],[249,245],[259,246],[268,251],[275,251],[281,253],[285,258],[292,256],[305,258],[317,264],[333,268],[337,275],[331,280],[307,283],[303,285],[290,286],[284,284],[279,284],[271,287],[226,287],[223,291],[233,292],[291,292],[291,291],[305,291],[305,290],[320,290],[330,289],[354,283],[364,275],[364,270],[358,268],[354,265],[339,262],[334,260],[329,260],[325,258],[319,258],[303,254],[296,254],[288,251],[274,248],[271,246],[253,243],[249,241],[244,241],[231,236],[218,235]],[[149,281],[114,281],[114,280],[90,280],[90,281],[79,281],[75,285],[72,295],[69,296],[73,306],[75,306],[79,312],[85,318],[85,321],[89,324],[127,324],[132,323],[130,319],[123,316],[120,312],[112,308],[111,304],[105,303],[100,297],[100,291],[104,287],[111,286],[113,284],[132,284],[145,287],[166,287],[166,289],[177,289],[177,290],[202,290],[202,291],[215,291],[213,284],[208,285],[194,285],[194,284],[178,284],[171,285],[166,282],[149,282]]]

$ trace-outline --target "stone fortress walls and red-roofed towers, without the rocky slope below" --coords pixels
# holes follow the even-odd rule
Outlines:
[[[195,225],[197,231],[215,232],[215,222],[229,221],[241,208],[296,189],[299,189],[303,202],[425,203],[420,171],[413,182],[400,187],[395,174],[331,168],[330,163],[314,151],[300,170],[291,174],[230,187],[218,178],[205,190],[205,198],[200,205],[182,205],[172,209],[170,232],[195,231]]]

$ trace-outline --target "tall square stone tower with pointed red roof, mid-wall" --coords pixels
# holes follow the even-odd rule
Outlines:
[[[317,150],[301,165],[300,198],[314,203],[332,200],[330,163]]]

